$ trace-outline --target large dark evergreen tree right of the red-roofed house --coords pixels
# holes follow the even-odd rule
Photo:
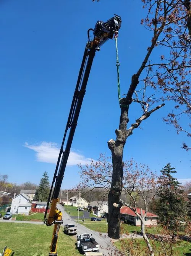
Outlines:
[[[180,229],[180,221],[185,218],[186,201],[181,183],[172,177],[172,173],[176,173],[175,168],[168,163],[160,172],[162,173],[160,176],[162,192],[156,201],[155,209],[159,221],[169,230],[176,232]]]

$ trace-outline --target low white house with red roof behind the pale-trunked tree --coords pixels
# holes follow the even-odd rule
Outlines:
[[[145,214],[145,210],[137,208],[137,212],[143,216]],[[141,221],[138,216],[131,210],[128,206],[122,206],[120,209],[121,217],[130,224],[132,223],[134,226],[141,226]],[[145,225],[146,226],[156,226],[157,225],[157,215],[153,213],[147,213],[145,217]]]

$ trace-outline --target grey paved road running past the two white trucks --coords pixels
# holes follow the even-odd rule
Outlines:
[[[57,205],[57,206],[59,210],[62,210],[63,226],[66,223],[75,223],[75,225],[77,226],[78,236],[83,233],[92,234],[92,236],[95,238],[95,241],[97,241],[97,243],[99,243],[100,245],[99,251],[102,252],[103,255],[111,255],[112,243],[110,241],[110,238],[107,236],[107,234],[104,233],[102,234],[102,236],[100,236],[98,232],[89,230],[89,228],[86,228],[84,225],[81,225],[77,223],[74,219],[72,219],[70,215],[68,215],[65,212],[62,205]],[[76,238],[76,241],[77,241],[77,238]]]

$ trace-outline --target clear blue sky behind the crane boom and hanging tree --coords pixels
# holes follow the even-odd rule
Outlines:
[[[39,183],[44,171],[52,181],[87,30],[113,13],[122,17],[118,48],[123,94],[151,42],[150,32],[140,25],[141,1],[1,1],[0,173],[8,174],[10,182]],[[160,49],[152,59],[159,55]],[[78,162],[104,152],[110,155],[107,141],[115,139],[120,114],[115,58],[114,40],[96,53],[62,188],[79,181]],[[187,137],[162,121],[168,107],[169,103],[144,121],[143,130],[134,130],[124,160],[133,157],[157,172],[171,162],[176,178],[191,179],[190,153],[181,149]],[[139,116],[132,105],[129,125]]]

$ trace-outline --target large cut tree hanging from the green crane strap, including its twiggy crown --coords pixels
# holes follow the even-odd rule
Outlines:
[[[164,120],[173,124],[177,132],[184,131],[188,136],[191,134],[183,128],[180,117],[185,115],[190,118],[190,46],[189,20],[190,12],[185,2],[180,0],[142,0],[144,8],[147,8],[147,17],[141,21],[151,31],[151,44],[142,60],[138,71],[131,77],[131,84],[126,97],[120,99],[121,114],[119,128],[115,130],[116,139],[108,141],[108,147],[112,152],[112,184],[108,194],[109,216],[108,236],[118,239],[120,234],[120,209],[113,207],[113,203],[120,202],[123,180],[123,149],[126,140],[133,134],[142,121],[151,116],[155,111],[164,106],[164,101],[171,101],[175,106]],[[167,56],[160,55],[158,63],[152,63],[150,57],[157,46],[167,49]],[[142,77],[143,83],[139,84]],[[153,93],[147,94],[147,88],[153,89]],[[160,96],[155,96],[155,92]],[[161,102],[162,104],[159,104]],[[132,103],[139,104],[142,115],[127,128],[129,111]],[[190,125],[189,125],[190,126]],[[189,147],[184,143],[183,147]]]

